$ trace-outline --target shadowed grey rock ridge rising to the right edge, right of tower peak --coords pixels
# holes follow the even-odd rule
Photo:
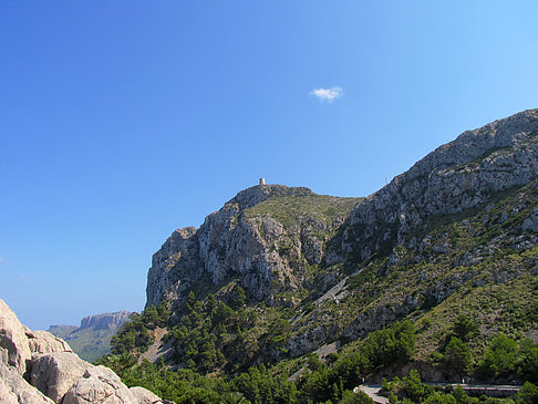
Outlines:
[[[430,218],[477,207],[537,176],[538,110],[465,132],[359,205],[344,227],[342,255],[365,260],[386,253]]]

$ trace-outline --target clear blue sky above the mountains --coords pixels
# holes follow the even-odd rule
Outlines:
[[[151,258],[237,191],[365,196],[538,107],[536,1],[0,2],[0,298],[139,311]],[[325,95],[320,99],[315,95]]]

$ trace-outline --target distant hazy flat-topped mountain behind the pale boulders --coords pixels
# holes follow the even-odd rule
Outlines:
[[[69,342],[73,352],[85,361],[93,362],[111,352],[111,339],[120,327],[128,321],[131,312],[118,311],[89,315],[81,325],[51,325],[51,334]]]

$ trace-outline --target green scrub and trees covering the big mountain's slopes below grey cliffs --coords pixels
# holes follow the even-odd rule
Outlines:
[[[356,201],[345,200],[335,209],[349,211]],[[291,226],[301,215],[331,218],[331,203],[329,197],[279,197],[246,214]],[[447,381],[536,383],[538,247],[537,235],[524,231],[523,222],[537,207],[535,180],[496,195],[487,206],[436,217],[415,235],[415,249],[395,247],[391,256],[358,265],[327,299],[313,284],[294,293],[297,305],[269,307],[249,299],[236,280],[213,293],[190,293],[183,315],[167,322],[165,341],[173,341],[173,354],[161,365],[123,370],[123,377],[147,383],[176,403],[193,395],[195,402],[226,402],[234,392],[260,403],[368,402],[346,392],[362,376],[392,380],[407,374],[410,366]],[[145,312],[123,335],[151,343],[158,325]],[[327,342],[337,341],[338,352],[320,361],[289,349],[293,338],[315,332],[328,335]],[[505,358],[498,358],[496,345]],[[115,358],[144,351],[125,343],[122,334],[113,346],[116,355],[104,360],[112,365]],[[157,372],[165,364],[183,370]],[[163,372],[175,381],[175,392],[159,384]],[[404,394],[402,385],[391,389]]]

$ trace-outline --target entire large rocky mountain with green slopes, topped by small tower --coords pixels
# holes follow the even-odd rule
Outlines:
[[[146,292],[113,352],[226,375],[251,402],[268,402],[241,384],[252,369],[297,389],[281,402],[411,370],[536,383],[538,110],[463,133],[365,198],[247,188],[172,234]]]

